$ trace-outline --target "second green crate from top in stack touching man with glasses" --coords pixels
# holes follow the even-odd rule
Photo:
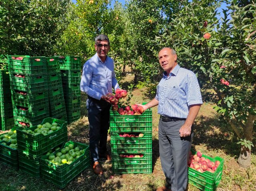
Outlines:
[[[62,83],[72,84],[80,83],[81,71],[80,70],[61,70]]]

